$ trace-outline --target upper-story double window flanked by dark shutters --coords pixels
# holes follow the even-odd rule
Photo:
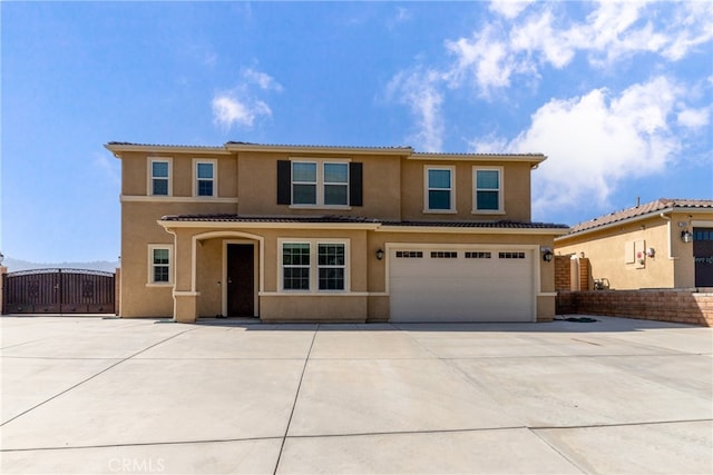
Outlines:
[[[315,208],[362,206],[362,164],[280,160],[277,204]]]

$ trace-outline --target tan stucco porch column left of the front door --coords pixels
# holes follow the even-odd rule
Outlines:
[[[195,249],[189,231],[174,231],[174,320],[194,324],[198,317],[197,299],[201,295],[193,287]]]

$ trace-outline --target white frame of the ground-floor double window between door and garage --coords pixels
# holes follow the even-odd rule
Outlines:
[[[310,245],[310,288],[307,290],[285,289],[284,285],[284,265],[283,263],[283,245],[285,244],[306,244]],[[320,289],[320,268],[326,268],[332,266],[319,265],[319,246],[320,245],[342,245],[344,246],[344,265],[338,266],[344,269],[344,288],[338,290]],[[346,294],[351,291],[351,278],[350,278],[350,239],[302,239],[302,238],[281,238],[277,239],[277,293],[279,294],[305,294],[305,295],[325,295],[325,294]]]

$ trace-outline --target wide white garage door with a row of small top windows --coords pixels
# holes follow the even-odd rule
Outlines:
[[[389,253],[392,321],[533,321],[533,251]]]

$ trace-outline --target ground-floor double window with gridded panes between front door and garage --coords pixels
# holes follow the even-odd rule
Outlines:
[[[283,241],[280,250],[282,290],[348,290],[348,243]]]

